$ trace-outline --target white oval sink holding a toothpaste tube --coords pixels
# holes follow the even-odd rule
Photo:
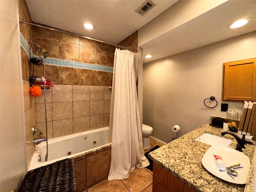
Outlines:
[[[226,167],[240,163],[240,166],[243,168],[236,169],[236,172],[238,172],[237,176],[230,176],[227,170],[220,172],[212,154],[221,156]],[[232,148],[223,146],[211,146],[202,158],[202,165],[204,168],[206,168],[206,170],[216,177],[236,184],[246,184],[251,166],[250,159],[245,154]]]

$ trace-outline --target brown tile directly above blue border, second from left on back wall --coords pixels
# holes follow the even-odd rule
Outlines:
[[[69,61],[79,61],[79,45],[60,41],[59,58]]]

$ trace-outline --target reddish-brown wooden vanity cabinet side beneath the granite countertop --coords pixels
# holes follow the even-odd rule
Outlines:
[[[196,190],[153,161],[152,192],[196,192]]]

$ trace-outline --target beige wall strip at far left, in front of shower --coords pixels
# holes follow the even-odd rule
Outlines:
[[[0,191],[18,191],[26,173],[18,1],[0,1]]]

